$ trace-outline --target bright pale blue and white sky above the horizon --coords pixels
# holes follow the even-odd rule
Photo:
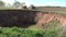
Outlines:
[[[2,0],[6,3],[13,3],[15,0]],[[66,7],[66,0],[16,0],[25,2],[25,5],[34,4],[36,7]]]

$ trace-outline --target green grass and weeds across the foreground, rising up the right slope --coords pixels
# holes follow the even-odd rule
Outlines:
[[[45,24],[43,30],[31,28],[0,27],[0,37],[66,37],[66,34],[64,35],[65,32],[59,34],[59,32],[63,32],[63,28],[61,29],[58,21]]]

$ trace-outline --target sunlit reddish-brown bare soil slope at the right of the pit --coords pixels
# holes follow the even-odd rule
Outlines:
[[[42,27],[54,20],[58,21],[62,26],[66,25],[66,16],[52,13],[44,13],[42,18],[38,20],[37,25]]]

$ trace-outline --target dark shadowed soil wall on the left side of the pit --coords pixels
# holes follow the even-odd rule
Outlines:
[[[0,10],[0,26],[29,26],[35,24],[40,11]],[[29,25],[28,25],[29,24]]]

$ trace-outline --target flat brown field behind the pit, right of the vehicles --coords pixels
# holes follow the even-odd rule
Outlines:
[[[36,7],[41,11],[62,11],[66,12],[66,7]]]

